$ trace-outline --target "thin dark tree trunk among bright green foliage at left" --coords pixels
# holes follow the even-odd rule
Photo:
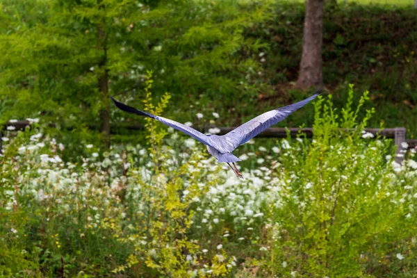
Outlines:
[[[101,3],[101,0],[97,0],[100,9],[104,9],[105,6]],[[99,46],[103,51],[103,56],[99,62],[99,67],[102,72],[99,76],[99,92],[101,93],[101,101],[104,108],[100,111],[101,118],[101,132],[104,133],[104,145],[106,148],[110,148],[110,103],[108,101],[108,70],[107,65],[107,34],[104,30],[103,24],[98,24],[97,32],[99,33]]]

